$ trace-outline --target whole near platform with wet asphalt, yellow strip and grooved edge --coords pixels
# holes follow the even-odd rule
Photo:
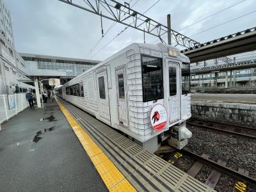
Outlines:
[[[214,191],[62,99],[2,125],[3,191]]]

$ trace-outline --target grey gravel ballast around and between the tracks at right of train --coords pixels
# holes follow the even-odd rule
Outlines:
[[[198,155],[208,154],[210,159],[215,162],[218,160],[225,161],[227,162],[227,167],[233,170],[244,168],[250,172],[250,177],[256,178],[255,140],[189,125],[188,129],[193,133],[186,146],[188,150]],[[179,167],[182,169],[181,165]],[[196,179],[205,182],[211,170],[211,167],[204,165],[202,170],[196,175]],[[234,181],[234,178],[222,173],[215,190],[232,191]],[[256,191],[256,184],[249,184],[247,191]]]

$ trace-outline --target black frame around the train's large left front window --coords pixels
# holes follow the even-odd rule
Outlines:
[[[154,98],[145,98],[145,82],[144,82],[144,67],[143,67],[143,58],[153,58],[157,59],[160,61],[160,67],[161,67],[161,95],[159,97],[154,97]],[[142,80],[142,94],[143,94],[143,102],[148,102],[152,100],[159,100],[159,99],[164,99],[164,76],[163,76],[163,58],[156,57],[156,56],[150,56],[147,54],[141,54],[141,80]]]

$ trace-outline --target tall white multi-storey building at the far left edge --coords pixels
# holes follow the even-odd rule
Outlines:
[[[3,0],[0,0],[0,31],[0,94],[26,92],[33,86],[22,83],[31,79],[22,71],[26,70],[25,61],[15,51],[10,11]]]

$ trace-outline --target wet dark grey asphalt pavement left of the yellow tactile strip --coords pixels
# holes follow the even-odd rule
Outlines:
[[[0,191],[108,191],[56,102],[0,131]]]

